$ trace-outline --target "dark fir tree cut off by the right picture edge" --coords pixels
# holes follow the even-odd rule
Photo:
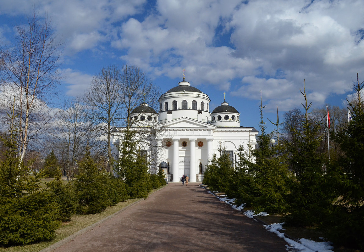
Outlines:
[[[337,200],[324,224],[336,244],[364,249],[364,107],[359,75],[354,88],[356,98],[348,101],[351,121],[341,130],[330,132],[343,155],[329,165],[331,188],[337,192]]]

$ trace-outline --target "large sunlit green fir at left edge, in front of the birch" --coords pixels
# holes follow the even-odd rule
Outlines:
[[[9,115],[11,119],[15,116]],[[43,173],[29,175],[17,156],[17,129],[1,136],[6,148],[0,160],[0,245],[25,245],[50,240],[58,228],[59,205],[41,188]]]

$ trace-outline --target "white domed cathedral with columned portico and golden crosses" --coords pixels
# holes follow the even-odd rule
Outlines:
[[[183,174],[190,182],[202,181],[208,161],[219,155],[220,147],[227,151],[232,162],[237,161],[239,145],[255,149],[258,131],[240,126],[240,113],[224,101],[212,112],[210,98],[199,89],[183,81],[159,98],[159,113],[142,103],[131,113],[132,127],[154,129],[156,134],[142,142],[140,151],[155,167],[151,172],[165,169],[167,181],[178,182]],[[115,146],[123,139],[123,129],[114,130]],[[143,140],[143,141],[142,141]]]

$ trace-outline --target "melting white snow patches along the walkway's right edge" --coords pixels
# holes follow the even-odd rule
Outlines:
[[[213,194],[214,196],[216,196],[216,194],[218,193],[218,192],[211,192],[211,191],[207,191],[207,192]],[[226,195],[221,195],[220,197],[219,196],[216,196],[216,197],[219,198],[220,201],[223,201],[226,204],[229,204],[233,209],[243,212],[249,218],[254,218],[254,216],[267,216],[268,215],[268,213],[265,213],[265,212],[260,212],[258,214],[255,214],[255,212],[253,210],[244,211],[243,209],[244,209],[245,204],[237,206],[234,204],[235,203],[234,198],[227,198],[224,196],[226,196]],[[221,197],[224,197],[224,198],[221,198]],[[308,240],[308,239],[304,239],[304,238],[302,238],[298,241],[294,241],[292,239],[285,237],[284,233],[279,231],[279,230],[284,230],[284,228],[282,227],[283,224],[284,223],[274,223],[272,225],[263,225],[263,226],[269,232],[275,233],[278,237],[283,238],[289,244],[289,245],[287,245],[287,251],[289,251],[289,252],[296,252],[296,251],[300,251],[300,252],[333,252],[332,249],[334,249],[334,247],[331,245],[332,243],[329,241],[317,242],[317,241],[312,241],[312,240]]]

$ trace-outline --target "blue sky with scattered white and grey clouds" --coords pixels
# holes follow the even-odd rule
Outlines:
[[[313,107],[346,107],[364,76],[363,0],[12,0],[0,1],[0,39],[35,5],[64,43],[61,90],[82,94],[109,64],[135,64],[165,92],[186,80],[226,101],[241,126],[301,107],[305,79]],[[282,117],[280,117],[282,119]]]

